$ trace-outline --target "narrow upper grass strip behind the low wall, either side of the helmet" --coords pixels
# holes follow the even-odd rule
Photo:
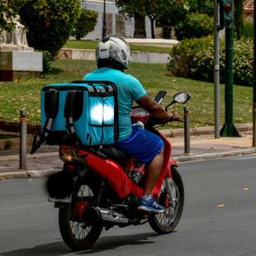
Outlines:
[[[63,48],[70,49],[88,49],[95,50],[97,41],[93,40],[68,40]],[[168,54],[170,52],[169,48],[165,47],[154,47],[154,46],[145,46],[145,45],[130,45],[130,50],[132,51],[148,51],[161,54]]]

